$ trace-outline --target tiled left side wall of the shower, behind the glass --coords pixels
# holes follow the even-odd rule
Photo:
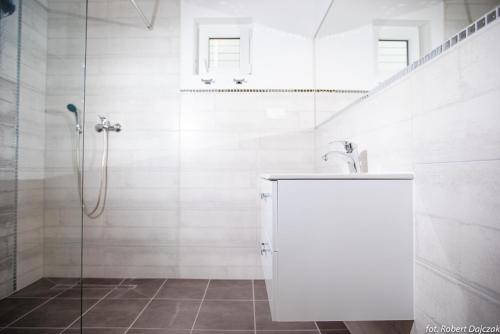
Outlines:
[[[19,42],[17,12],[2,19],[2,61],[0,85],[2,94],[0,141],[0,173],[17,168],[16,188],[7,187],[2,177],[2,214],[6,213],[4,201],[9,200],[9,210],[17,208],[15,216],[9,214],[10,233],[2,231],[1,243],[9,245],[8,254],[16,272],[9,275],[11,289],[20,289],[43,275],[43,170],[44,170],[44,104],[47,57],[47,11],[38,1],[22,3],[22,21]],[[4,37],[6,36],[6,37]],[[17,77],[17,48],[20,47],[20,76]],[[9,78],[8,81],[5,79]],[[19,86],[12,80],[19,79]],[[6,86],[7,85],[7,86]],[[19,90],[17,90],[19,88]],[[19,96],[17,96],[19,94]],[[11,95],[11,96],[8,96]],[[19,97],[19,104],[16,99]],[[17,128],[16,128],[17,127]],[[17,147],[17,153],[16,153]],[[17,161],[16,161],[17,159]],[[10,163],[6,163],[10,161]],[[9,192],[6,192],[9,190]],[[17,193],[15,192],[17,191]],[[7,196],[9,195],[9,196]],[[16,203],[17,202],[17,203]],[[15,217],[15,218],[13,218]],[[11,219],[15,219],[12,221]],[[2,225],[4,223],[2,222]],[[2,229],[5,229],[2,226]],[[17,232],[17,249],[14,250],[13,234]],[[4,238],[7,238],[4,240]],[[3,258],[3,256],[2,256]],[[3,262],[2,267],[5,267]],[[0,274],[0,284],[5,287],[6,275]],[[15,277],[16,283],[12,282]],[[0,295],[4,296],[3,290]],[[10,291],[11,292],[11,291]]]

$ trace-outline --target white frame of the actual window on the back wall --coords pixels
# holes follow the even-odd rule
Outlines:
[[[203,77],[233,78],[251,74],[250,24],[198,24],[198,74]],[[237,69],[211,69],[209,65],[209,39],[210,38],[239,38],[240,39],[240,66]]]

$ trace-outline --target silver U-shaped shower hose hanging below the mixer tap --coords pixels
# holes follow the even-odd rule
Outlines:
[[[83,187],[82,187],[82,161],[80,155],[80,131],[76,131],[76,149],[75,152],[75,167],[78,177],[78,194],[80,196],[80,201],[82,203],[83,212],[85,215],[91,219],[99,218],[104,213],[104,208],[106,207],[106,197],[108,192],[108,152],[109,152],[109,132],[107,129],[102,131],[103,134],[103,151],[101,158],[101,175],[99,182],[99,194],[97,196],[97,201],[95,205],[89,206],[85,202]]]

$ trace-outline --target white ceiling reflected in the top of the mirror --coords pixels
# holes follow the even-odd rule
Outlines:
[[[437,5],[442,0],[334,0],[318,36],[340,33]]]

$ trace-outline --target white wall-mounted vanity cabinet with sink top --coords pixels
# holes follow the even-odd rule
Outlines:
[[[412,176],[264,175],[274,321],[413,319]]]

